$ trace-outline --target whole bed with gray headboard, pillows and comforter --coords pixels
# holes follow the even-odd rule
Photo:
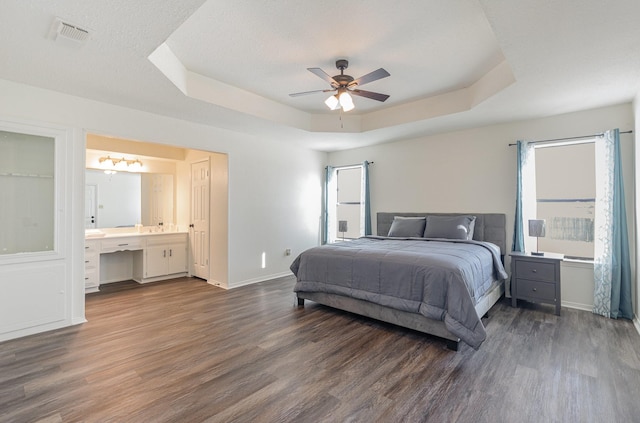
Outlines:
[[[294,260],[297,304],[310,300],[443,338],[453,350],[460,341],[478,349],[486,338],[481,317],[504,294],[505,222],[496,213],[378,213],[376,236],[310,248]]]

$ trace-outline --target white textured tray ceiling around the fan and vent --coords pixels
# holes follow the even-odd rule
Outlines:
[[[0,78],[330,151],[631,101],[638,16],[637,0],[3,0]],[[86,45],[54,42],[55,17]],[[326,88],[306,68],[340,58],[389,71],[363,87],[389,100],[341,115],[288,96]]]

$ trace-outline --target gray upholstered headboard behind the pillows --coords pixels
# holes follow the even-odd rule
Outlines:
[[[507,251],[507,217],[502,213],[390,213],[378,212],[378,236],[387,236],[394,216],[458,216],[471,215],[476,217],[473,239],[487,241],[500,247],[502,255]]]

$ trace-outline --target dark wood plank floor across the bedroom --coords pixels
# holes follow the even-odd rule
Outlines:
[[[482,347],[453,352],[294,307],[292,286],[184,278],[89,295],[88,323],[0,343],[0,421],[640,421],[629,321],[502,300]]]

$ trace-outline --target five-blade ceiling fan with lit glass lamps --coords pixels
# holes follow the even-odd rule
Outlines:
[[[386,78],[389,76],[389,72],[380,68],[373,72],[370,72],[364,76],[361,76],[358,79],[354,79],[351,75],[345,75],[344,70],[349,67],[349,61],[345,59],[340,59],[336,61],[336,68],[340,70],[340,75],[329,76],[328,73],[323,71],[320,68],[307,68],[307,70],[323,80],[327,81],[331,84],[331,89],[327,90],[315,90],[315,91],[304,91],[300,93],[289,94],[291,97],[299,97],[308,94],[315,93],[328,93],[328,92],[336,92],[332,94],[327,100],[324,102],[327,107],[331,110],[337,110],[342,107],[342,110],[348,112],[354,108],[353,99],[350,94],[358,95],[360,97],[370,98],[372,100],[377,101],[385,101],[389,98],[386,94],[374,93],[371,91],[359,90],[356,87],[360,85],[368,84],[369,82],[377,81],[378,79]]]

